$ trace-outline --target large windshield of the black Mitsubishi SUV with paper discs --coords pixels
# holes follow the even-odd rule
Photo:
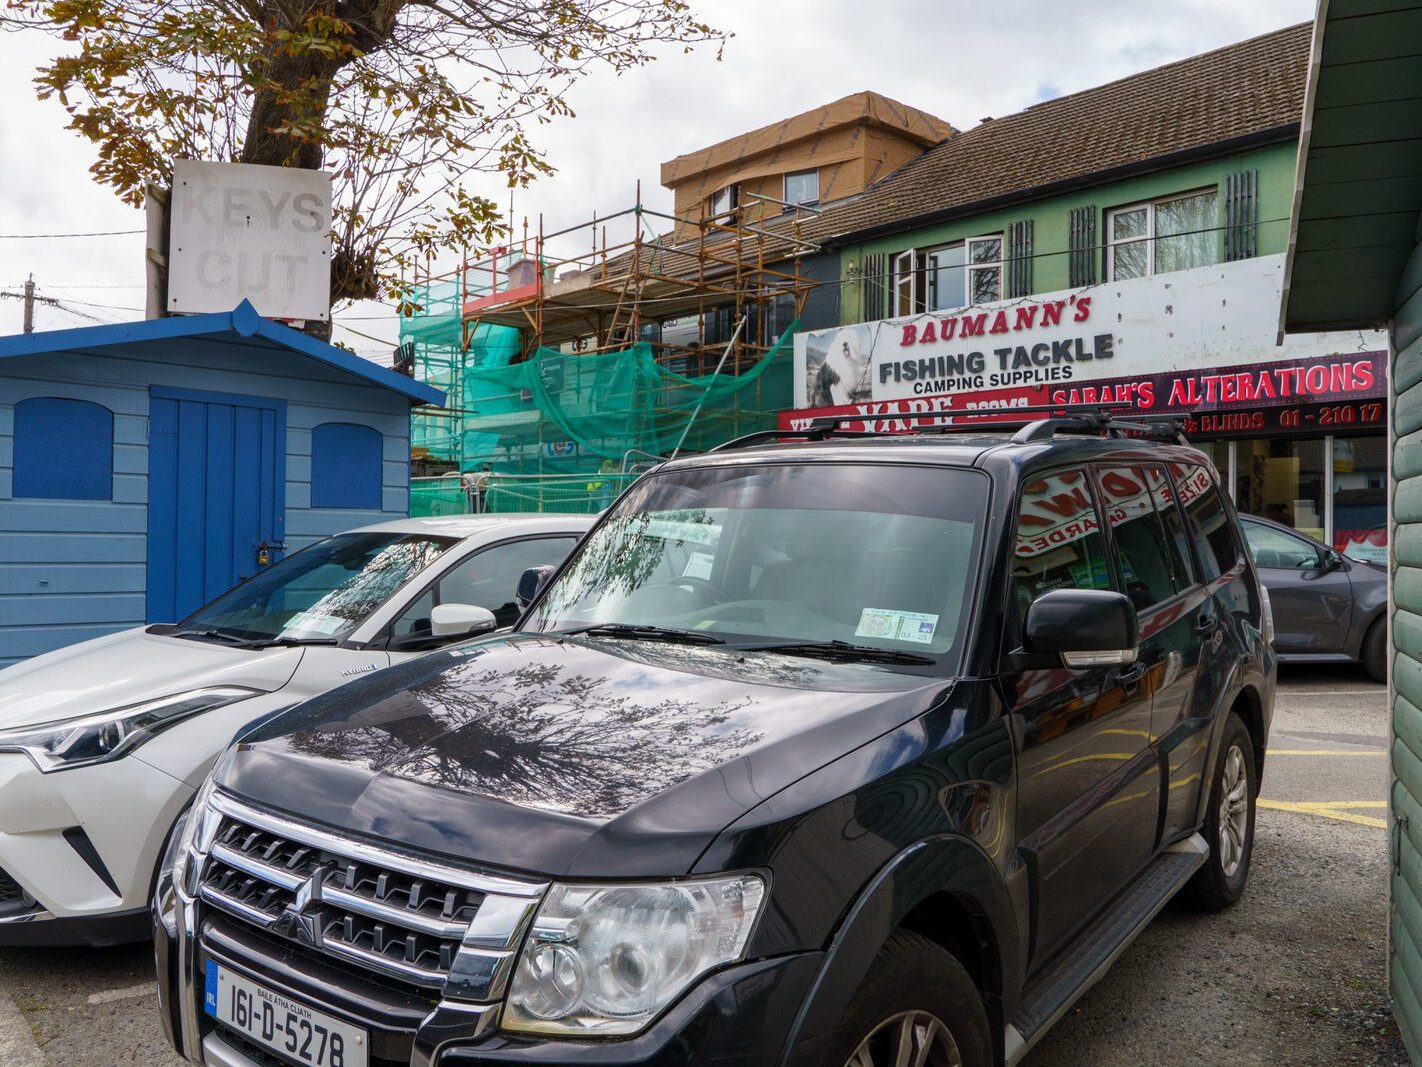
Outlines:
[[[539,600],[530,630],[693,630],[957,662],[985,509],[973,471],[727,465],[644,478]]]

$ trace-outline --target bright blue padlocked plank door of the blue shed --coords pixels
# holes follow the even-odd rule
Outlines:
[[[148,622],[176,622],[280,558],[286,405],[152,388]]]

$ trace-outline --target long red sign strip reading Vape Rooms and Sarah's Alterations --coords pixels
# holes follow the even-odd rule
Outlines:
[[[1001,411],[1044,404],[1106,404],[1143,413],[1179,411],[1199,437],[1331,434],[1382,425],[1386,417],[1385,350],[1233,367],[1162,371],[1091,384],[1020,386],[971,394],[840,404],[781,413],[781,428],[803,430],[822,415],[863,415],[849,430],[896,432],[924,417]]]

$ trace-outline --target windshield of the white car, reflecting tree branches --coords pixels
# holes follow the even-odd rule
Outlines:
[[[455,538],[341,534],[273,563],[185,619],[176,633],[242,642],[334,642]]]

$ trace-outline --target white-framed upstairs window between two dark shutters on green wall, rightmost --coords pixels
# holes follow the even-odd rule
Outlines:
[[[1106,215],[1106,277],[1190,270],[1219,262],[1214,189],[1116,208]]]

